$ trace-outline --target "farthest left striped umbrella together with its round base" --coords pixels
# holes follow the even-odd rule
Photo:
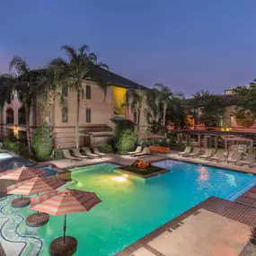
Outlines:
[[[0,173],[0,179],[1,180],[12,180],[12,181],[26,181],[34,177],[40,177],[43,175],[46,175],[47,172],[32,168],[32,167],[26,167],[23,166],[21,168],[12,169],[6,172]],[[29,205],[31,202],[31,199],[14,199],[12,202],[13,207],[25,207]]]

